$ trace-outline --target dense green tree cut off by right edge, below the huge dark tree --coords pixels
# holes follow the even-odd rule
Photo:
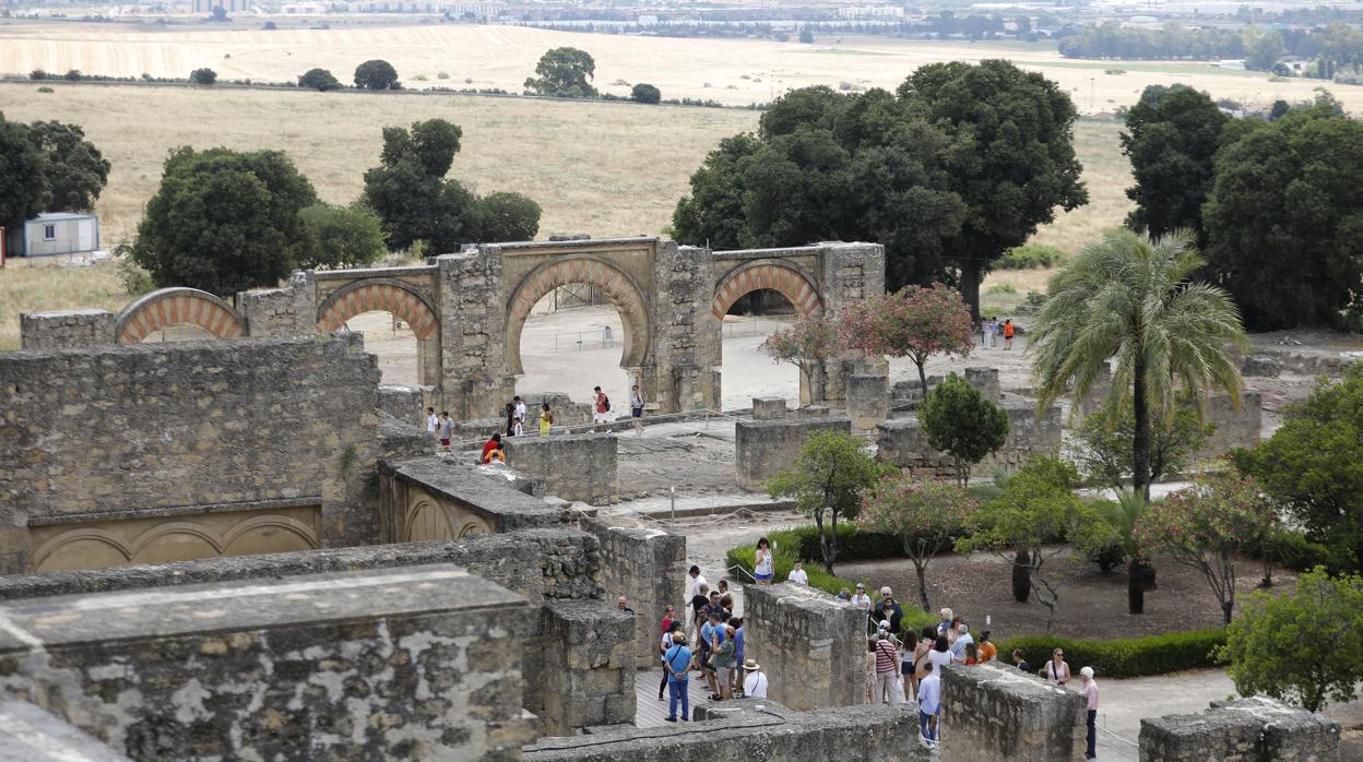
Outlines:
[[[1340,566],[1363,573],[1363,365],[1322,382],[1303,402],[1283,410],[1268,442],[1232,458],[1328,545]]]

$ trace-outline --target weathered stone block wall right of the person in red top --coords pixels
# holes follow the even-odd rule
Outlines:
[[[507,465],[544,480],[552,495],[600,504],[616,493],[615,436],[510,436],[503,442]]]

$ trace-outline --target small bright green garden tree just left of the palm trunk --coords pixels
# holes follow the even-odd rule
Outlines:
[[[1013,563],[1013,598],[1045,607],[1045,631],[1055,624],[1063,575],[1055,556],[1066,543],[1079,552],[1092,547],[1097,518],[1071,492],[1079,481],[1074,466],[1050,455],[1032,455],[1003,481],[998,498],[985,502],[966,521],[966,536],[955,541],[961,553],[992,551]],[[1058,545],[1047,544],[1059,543]],[[1011,555],[1011,558],[1009,558]]]

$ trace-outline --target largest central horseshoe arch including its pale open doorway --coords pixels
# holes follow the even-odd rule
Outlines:
[[[601,299],[545,314],[556,293],[586,288]],[[521,394],[563,393],[587,402],[601,386],[612,410],[624,412],[628,387],[647,364],[650,326],[643,294],[624,271],[593,256],[555,259],[526,275],[507,303],[507,367]],[[652,398],[646,379],[643,386]]]

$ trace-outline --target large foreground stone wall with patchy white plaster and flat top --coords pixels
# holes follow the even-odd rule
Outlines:
[[[0,686],[138,761],[497,759],[533,737],[530,604],[451,566],[0,613]]]

